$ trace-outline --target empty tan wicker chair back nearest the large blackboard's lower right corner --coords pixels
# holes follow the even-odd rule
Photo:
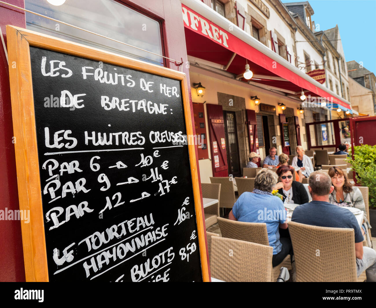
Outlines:
[[[234,240],[211,238],[211,276],[227,282],[270,282],[270,246]]]

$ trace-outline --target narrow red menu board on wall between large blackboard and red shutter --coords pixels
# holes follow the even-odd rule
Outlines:
[[[193,103],[194,126],[196,129],[196,148],[199,159],[209,158],[208,138],[206,138],[204,104]]]

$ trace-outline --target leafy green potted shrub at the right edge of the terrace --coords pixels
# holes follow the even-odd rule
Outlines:
[[[376,145],[353,147],[354,159],[349,160],[353,170],[356,172],[356,182],[361,186],[368,186],[371,235],[376,237]]]

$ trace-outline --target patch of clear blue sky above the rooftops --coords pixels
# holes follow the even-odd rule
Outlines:
[[[299,2],[282,0],[283,3]],[[338,24],[346,61],[363,62],[376,74],[376,0],[310,0],[312,21],[327,30]]]

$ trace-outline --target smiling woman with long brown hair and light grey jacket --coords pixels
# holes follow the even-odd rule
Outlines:
[[[332,184],[334,186],[333,192],[329,195],[329,203],[338,206],[351,206],[353,208],[361,209],[364,212],[364,221],[361,230],[362,234],[365,234],[367,238],[368,247],[371,247],[371,239],[367,232],[368,229],[371,228],[371,225],[367,220],[367,211],[365,210],[361,191],[358,187],[352,186],[342,169],[331,167],[328,174],[332,178]]]

